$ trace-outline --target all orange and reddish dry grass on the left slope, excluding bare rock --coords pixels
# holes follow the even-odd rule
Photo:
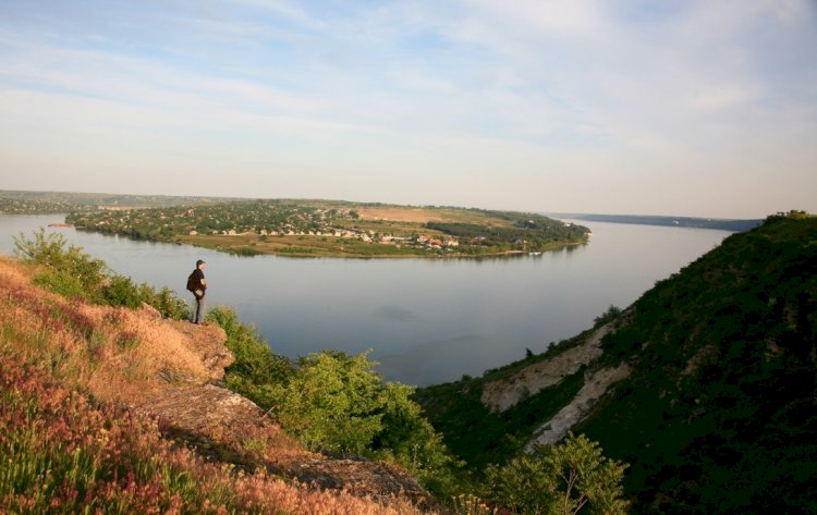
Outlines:
[[[149,396],[167,369],[206,376],[187,336],[139,311],[54,295],[32,275],[0,257],[0,514],[420,513],[402,498],[317,490],[263,468],[236,474],[166,440],[156,420],[114,401]],[[268,458],[295,452],[279,432],[244,436],[247,451]]]

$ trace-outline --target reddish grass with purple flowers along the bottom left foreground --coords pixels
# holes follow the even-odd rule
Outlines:
[[[19,359],[0,345],[0,514],[419,514],[402,499],[204,463],[162,439],[156,420],[93,402]]]

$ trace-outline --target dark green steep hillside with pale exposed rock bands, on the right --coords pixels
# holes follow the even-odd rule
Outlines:
[[[815,513],[816,340],[817,219],[770,217],[606,324],[418,400],[477,471],[572,429],[630,463],[635,513]]]

